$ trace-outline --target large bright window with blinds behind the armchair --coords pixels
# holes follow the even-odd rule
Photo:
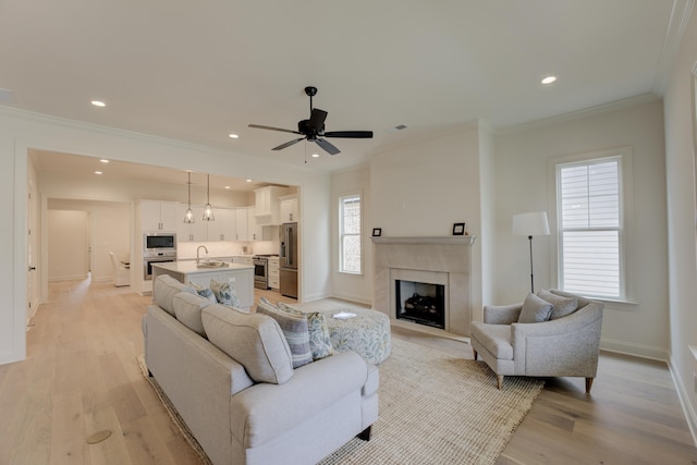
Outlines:
[[[615,155],[555,166],[559,285],[564,291],[625,298],[622,161]]]

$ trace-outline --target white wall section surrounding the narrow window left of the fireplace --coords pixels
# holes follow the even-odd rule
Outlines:
[[[339,197],[346,194],[362,194],[363,222],[360,244],[363,248],[363,274],[340,273],[339,270]],[[331,176],[331,274],[332,293],[335,297],[370,304],[372,302],[372,224],[370,169],[357,167],[332,173]]]

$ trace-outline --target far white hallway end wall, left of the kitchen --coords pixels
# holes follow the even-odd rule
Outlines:
[[[48,280],[86,279],[89,272],[89,228],[87,211],[48,211]]]

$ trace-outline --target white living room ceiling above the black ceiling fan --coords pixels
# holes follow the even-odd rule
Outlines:
[[[0,0],[0,105],[299,164],[319,148],[271,151],[293,135],[247,124],[295,130],[314,85],[327,131],[375,132],[308,160],[331,171],[478,118],[661,95],[692,3]]]

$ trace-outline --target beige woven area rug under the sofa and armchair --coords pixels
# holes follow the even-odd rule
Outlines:
[[[370,441],[354,438],[320,464],[493,464],[542,386],[506,377],[499,391],[484,362],[394,338],[392,355],[380,365],[380,413]],[[172,418],[186,436],[175,413]]]

